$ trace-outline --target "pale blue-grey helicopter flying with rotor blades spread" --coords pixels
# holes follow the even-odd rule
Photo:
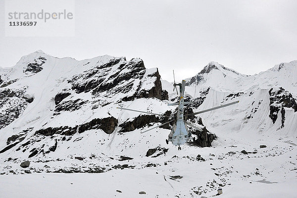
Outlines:
[[[165,124],[168,124],[172,121],[174,121],[173,125],[172,125],[172,129],[170,134],[168,135],[168,139],[166,139],[166,144],[168,145],[169,142],[171,142],[174,146],[178,146],[178,150],[181,150],[182,148],[180,147],[181,145],[184,145],[186,142],[188,142],[191,138],[192,138],[192,133],[189,132],[188,130],[188,126],[192,127],[198,131],[203,131],[203,128],[195,126],[189,122],[186,122],[186,120],[184,119],[184,116],[189,116],[189,115],[197,115],[200,113],[204,113],[207,111],[212,111],[218,108],[223,108],[226,106],[230,106],[233,104],[236,104],[239,102],[238,101],[234,101],[234,102],[230,102],[227,104],[223,104],[220,106],[216,106],[216,107],[212,107],[209,109],[205,109],[202,111],[198,111],[196,113],[191,113],[191,114],[186,114],[184,115],[184,106],[185,104],[191,104],[191,103],[195,103],[193,101],[184,101],[184,94],[185,94],[185,88],[186,88],[186,81],[183,80],[182,83],[176,84],[175,83],[175,77],[174,77],[174,71],[173,71],[173,78],[174,78],[174,84],[173,84],[173,91],[176,90],[177,95],[179,94],[178,97],[178,102],[175,103],[170,103],[167,104],[168,106],[172,106],[172,105],[178,105],[178,109],[177,109],[177,114],[176,114],[176,118],[172,118],[170,120],[168,120],[167,122],[164,122],[158,126],[152,127],[146,131],[141,132],[146,133],[152,129],[155,129],[157,127],[163,126]],[[179,86],[179,93],[177,90],[177,86]],[[123,110],[129,110],[129,111],[136,111],[136,112],[141,112],[141,113],[146,113],[146,114],[153,114],[153,115],[158,115],[158,116],[163,116],[163,117],[173,117],[173,116],[165,116],[165,115],[161,115],[161,114],[157,114],[157,113],[150,113],[150,112],[145,112],[145,111],[139,111],[139,110],[135,110],[135,109],[128,109],[128,108],[121,108],[121,107],[117,107],[118,109],[123,109]],[[193,138],[193,141],[195,141],[195,138]]]

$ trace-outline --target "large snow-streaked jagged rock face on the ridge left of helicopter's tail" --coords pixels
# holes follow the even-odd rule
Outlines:
[[[98,64],[90,70],[73,76],[68,82],[76,93],[92,92],[97,97],[111,97],[118,93],[127,96],[123,101],[135,98],[161,99],[162,86],[158,70],[147,73],[141,59],[126,61],[124,57],[114,57],[105,64]],[[152,87],[146,87],[151,84]]]

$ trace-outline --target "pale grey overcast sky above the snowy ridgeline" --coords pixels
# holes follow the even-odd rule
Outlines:
[[[173,81],[217,61],[244,74],[297,59],[297,0],[76,0],[74,37],[5,37],[0,1],[0,66],[42,49],[77,60],[142,58]],[[6,16],[5,16],[6,17]]]

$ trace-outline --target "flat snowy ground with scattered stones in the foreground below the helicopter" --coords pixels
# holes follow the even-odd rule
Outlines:
[[[222,132],[218,135],[220,139],[213,143],[213,148],[186,146],[181,151],[172,148],[162,158],[140,157],[121,162],[137,165],[147,161],[159,164],[156,167],[136,166],[134,169],[93,174],[1,175],[0,195],[3,198],[200,198],[212,197],[217,194],[218,188],[222,188],[220,198],[296,198],[296,142],[276,136],[255,135],[251,138]],[[267,148],[259,148],[260,145]],[[243,154],[240,152],[243,149],[255,153]],[[205,161],[197,160],[198,154]],[[173,179],[170,176],[182,178]],[[205,193],[195,193],[201,190]],[[140,195],[141,191],[146,195]]]

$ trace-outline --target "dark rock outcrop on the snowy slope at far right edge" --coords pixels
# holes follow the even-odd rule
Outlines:
[[[281,128],[284,127],[285,123],[285,109],[284,107],[293,108],[294,112],[297,111],[297,103],[293,98],[292,94],[286,91],[283,88],[279,88],[278,90],[269,90],[270,95],[270,114],[272,122],[275,123],[277,120],[277,114],[279,110],[281,110],[282,114],[282,125]]]

